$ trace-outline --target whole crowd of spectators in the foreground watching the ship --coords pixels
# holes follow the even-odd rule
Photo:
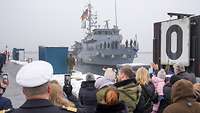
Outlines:
[[[149,69],[136,71],[123,66],[118,72],[105,69],[95,79],[88,73],[82,81],[78,97],[73,86],[50,81],[53,67],[45,61],[33,61],[17,73],[16,82],[22,87],[26,102],[13,108],[0,89],[0,110],[11,113],[200,113],[200,83],[177,63],[169,71],[152,64]],[[0,81],[3,83],[3,81]],[[8,85],[8,82],[4,82]]]

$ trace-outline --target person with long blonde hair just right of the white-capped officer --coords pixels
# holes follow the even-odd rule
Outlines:
[[[64,97],[62,87],[60,86],[58,81],[51,81],[50,87],[49,100],[53,105],[56,105],[58,107],[64,106],[75,108],[75,105]]]

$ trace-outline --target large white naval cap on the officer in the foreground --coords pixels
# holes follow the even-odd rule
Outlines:
[[[36,87],[48,82],[52,75],[53,67],[50,63],[33,61],[18,71],[16,82],[22,87]]]

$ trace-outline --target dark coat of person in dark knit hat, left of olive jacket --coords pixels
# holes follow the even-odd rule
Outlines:
[[[96,106],[96,88],[95,81],[83,81],[79,91],[79,101],[83,106]]]

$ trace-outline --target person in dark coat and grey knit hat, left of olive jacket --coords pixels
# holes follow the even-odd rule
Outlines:
[[[86,81],[81,83],[81,88],[79,90],[79,101],[81,107],[85,108],[85,112],[94,113],[97,99],[96,99],[96,88],[94,86],[95,79],[92,73],[86,75]]]

